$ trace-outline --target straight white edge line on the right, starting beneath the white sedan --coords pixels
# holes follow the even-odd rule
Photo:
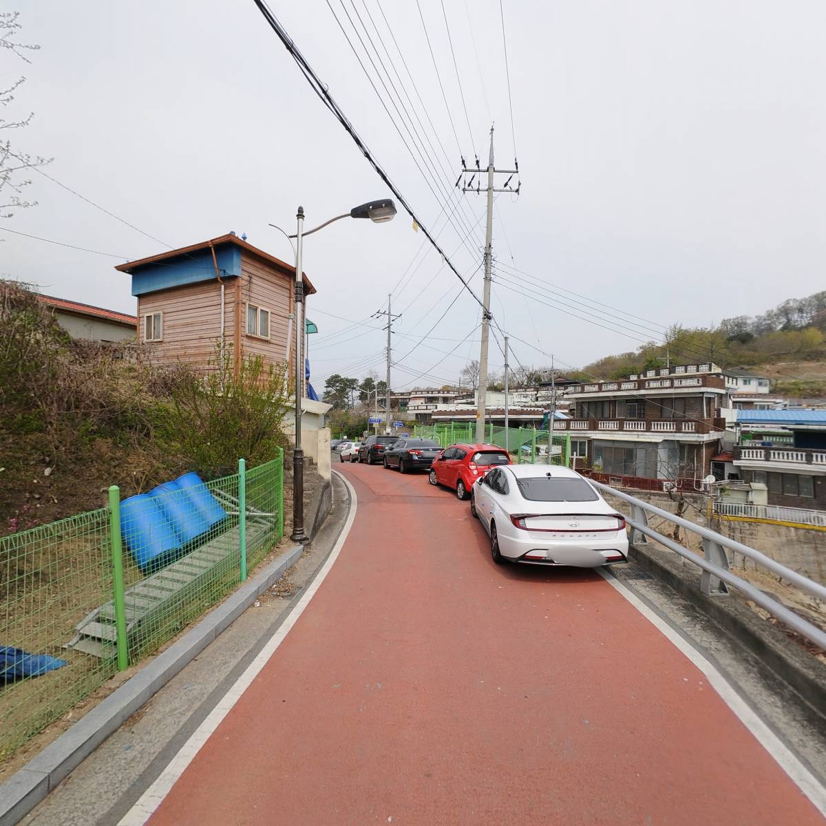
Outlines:
[[[795,753],[786,746],[786,743],[783,743],[776,733],[760,719],[757,713],[743,700],[743,697],[738,695],[737,691],[734,691],[729,681],[714,667],[714,664],[697,651],[686,638],[677,634],[671,625],[640,600],[624,582],[620,582],[612,574],[601,571],[599,568],[596,570],[610,586],[619,591],[631,605],[634,605],[634,608],[640,614],[648,619],[663,636],[668,638],[681,653],[691,660],[695,667],[705,674],[709,685],[720,695],[720,698],[729,706],[729,709],[738,716],[740,722],[754,735],[757,742],[774,758],[775,762],[786,772],[791,781],[795,783],[795,786],[809,798],[820,814],[826,816],[826,789],[820,785],[817,777],[800,762]]]

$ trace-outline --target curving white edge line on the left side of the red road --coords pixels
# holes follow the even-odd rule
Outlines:
[[[249,666],[230,687],[230,690],[221,697],[221,700],[218,701],[215,708],[207,714],[206,719],[204,719],[202,724],[192,733],[192,736],[187,742],[183,744],[181,750],[172,758],[164,771],[160,773],[158,779],[145,790],[143,795],[140,795],[140,799],[137,800],[135,805],[123,816],[118,826],[144,826],[146,821],[152,817],[155,809],[164,802],[164,798],[169,794],[169,791],[183,774],[186,767],[192,762],[195,755],[201,750],[202,745],[206,743],[211,737],[211,734],[215,732],[221,724],[221,720],[230,713],[230,709],[240,700],[241,695],[244,694],[244,691],[247,690],[255,677],[259,675],[259,672],[267,664],[269,658],[273,656],[276,648],[281,645],[283,639],[289,634],[292,626],[296,624],[298,618],[304,612],[306,606],[309,605],[316,591],[318,591],[321,583],[325,581],[325,577],[330,573],[330,568],[333,567],[335,560],[338,558],[341,548],[344,546],[344,541],[350,532],[350,528],[353,526],[356,509],[358,507],[358,498],[353,486],[340,473],[336,471],[333,472],[347,486],[352,506],[350,507],[347,520],[344,522],[344,528],[341,530],[341,534],[339,534],[339,539],[336,540],[335,546],[332,551],[330,551],[330,556],[321,567],[316,578],[307,587],[304,595],[301,596],[301,599],[293,606],[290,613],[278,627],[278,631],[268,640],[268,643],[264,645],[253,662],[249,663]]]

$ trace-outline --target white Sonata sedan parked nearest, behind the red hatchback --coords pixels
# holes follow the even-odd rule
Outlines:
[[[624,517],[568,468],[495,468],[473,486],[470,510],[491,536],[495,563],[601,567],[628,561]]]

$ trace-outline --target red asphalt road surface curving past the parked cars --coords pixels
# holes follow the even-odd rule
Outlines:
[[[496,567],[467,503],[343,465],[358,513],[161,824],[822,824],[595,572]]]

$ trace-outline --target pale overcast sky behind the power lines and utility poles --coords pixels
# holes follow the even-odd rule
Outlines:
[[[415,158],[438,183],[417,169],[326,0],[271,0],[421,220],[439,230],[444,203],[452,212],[457,200],[460,150],[484,163],[494,121],[496,164],[507,168],[514,138],[498,0],[444,0],[467,119],[441,4],[420,3],[449,108],[416,2],[330,0],[387,102],[343,8],[356,26],[358,10],[405,107],[415,108],[427,160]],[[235,230],[292,260],[268,222],[294,231],[299,204],[315,225],[389,194],[252,0],[0,0],[0,8],[19,9],[20,40],[41,47],[31,65],[0,50],[0,86],[27,78],[4,116],[36,113],[12,135],[17,150],[54,157],[51,176],[167,244]],[[505,0],[504,8],[522,194],[496,203],[491,311],[502,328],[582,365],[674,322],[757,314],[824,287],[826,3]],[[166,248],[33,178],[28,195],[39,205],[0,226],[0,273],[134,312],[129,277],[113,266]],[[462,200],[439,241],[470,273],[481,262],[484,197]],[[468,227],[475,232],[463,244]],[[401,212],[389,224],[340,221],[307,239],[317,386],[334,372],[383,375],[382,330],[333,316],[363,321],[394,288],[393,311],[402,312],[394,387],[455,381],[477,357],[478,305],[467,293],[407,355],[459,292],[439,255],[420,249],[424,240]],[[411,262],[420,266],[400,281]],[[481,273],[472,286],[481,294]],[[582,297],[601,304],[589,309]],[[522,363],[549,361],[511,344]],[[502,363],[495,344],[491,361]]]

